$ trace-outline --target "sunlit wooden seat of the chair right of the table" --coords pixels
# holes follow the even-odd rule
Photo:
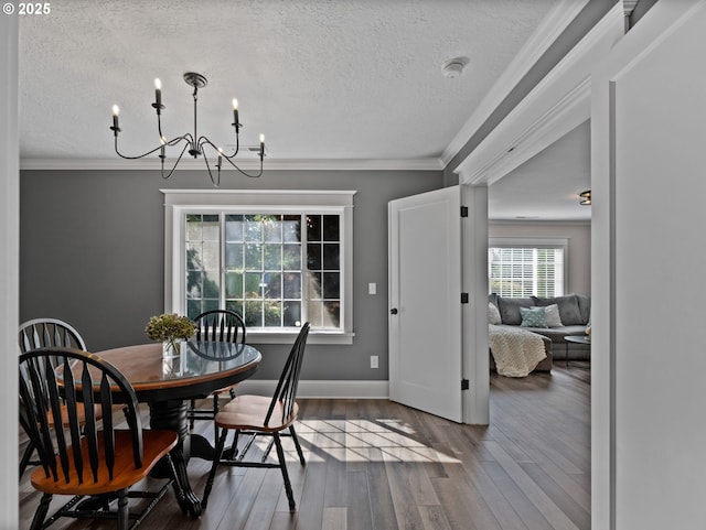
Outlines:
[[[284,405],[281,401],[278,401],[269,424],[265,425],[264,421],[271,402],[271,397],[237,396],[221,408],[221,411],[216,414],[216,424],[218,428],[242,431],[277,432],[287,429],[297,419],[299,407],[295,402],[291,414],[282,421]]]

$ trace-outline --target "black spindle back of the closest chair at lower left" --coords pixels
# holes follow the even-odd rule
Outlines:
[[[113,479],[114,392],[125,403],[125,418],[118,421],[127,420],[137,469],[142,466],[142,425],[135,390],[120,371],[98,356],[72,348],[42,348],[20,356],[20,422],[47,478]],[[62,410],[63,421],[53,421],[62,418]],[[83,468],[84,452],[90,469]]]

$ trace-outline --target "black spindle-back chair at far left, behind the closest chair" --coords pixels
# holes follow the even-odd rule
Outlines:
[[[20,324],[18,343],[21,353],[51,347],[86,349],[86,342],[81,334],[71,324],[58,318],[33,318],[23,322]],[[79,418],[83,417],[82,411]],[[62,414],[62,418],[65,418],[65,414]],[[39,464],[39,461],[31,459],[33,453],[34,444],[30,440],[20,459],[20,477],[28,465]]]

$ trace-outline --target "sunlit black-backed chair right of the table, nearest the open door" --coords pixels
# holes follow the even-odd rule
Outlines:
[[[299,411],[299,407],[297,405],[297,387],[299,386],[299,376],[301,374],[301,364],[307,346],[309,327],[310,324],[308,322],[301,326],[297,340],[285,363],[285,368],[275,389],[275,394],[271,398],[247,394],[237,396],[231,402],[223,405],[216,414],[215,422],[216,426],[221,430],[221,434],[202,500],[202,507],[204,509],[208,502],[213,480],[220,465],[234,467],[278,467],[285,482],[285,491],[289,500],[289,509],[292,511],[296,509],[297,505],[289,480],[289,473],[287,473],[287,462],[285,461],[281,436],[291,436],[295,442],[295,447],[297,448],[297,454],[299,455],[299,462],[302,466],[306,465],[304,455],[301,452],[301,445],[295,431],[295,421],[297,420],[297,413]],[[228,457],[223,458],[225,441],[228,431],[232,430],[235,431],[234,445],[237,444],[240,434],[250,434],[250,439],[245,448],[239,453],[231,451],[227,455]],[[284,431],[288,431],[288,433]],[[256,436],[270,436],[270,443],[265,450],[260,462],[246,461],[247,448]],[[272,443],[277,450],[277,463],[267,462]]]

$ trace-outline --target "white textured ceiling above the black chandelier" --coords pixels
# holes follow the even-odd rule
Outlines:
[[[199,91],[199,133],[218,145],[234,143],[231,99],[237,97],[242,142],[255,145],[264,132],[266,164],[329,160],[364,167],[382,161],[440,169],[445,150],[558,3],[52,2],[49,15],[21,18],[20,155],[25,165],[106,161],[129,167],[113,151],[111,106],[121,109],[121,151],[157,147],[151,104],[159,77],[164,134],[193,131],[192,88],[182,79],[192,71],[208,78]],[[460,77],[447,78],[441,67],[453,57],[468,65]],[[578,180],[579,173],[587,176],[563,176]],[[537,199],[530,179],[545,186],[548,173],[528,174],[517,177],[525,193],[511,193],[505,179],[492,186],[493,216],[496,208],[511,216],[511,202],[502,197]],[[528,206],[516,215],[534,216]]]

